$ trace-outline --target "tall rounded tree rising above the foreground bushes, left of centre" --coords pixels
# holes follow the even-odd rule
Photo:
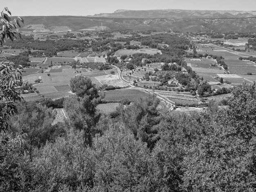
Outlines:
[[[84,76],[76,76],[70,80],[70,87],[76,96],[64,101],[64,108],[68,113],[71,125],[76,129],[83,129],[85,144],[92,145],[92,137],[97,133],[94,129],[100,114],[96,106],[101,102],[101,95],[97,85]]]

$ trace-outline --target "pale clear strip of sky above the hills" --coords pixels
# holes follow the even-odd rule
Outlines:
[[[9,0],[12,16],[88,16],[117,9],[194,9],[256,11],[256,0]]]

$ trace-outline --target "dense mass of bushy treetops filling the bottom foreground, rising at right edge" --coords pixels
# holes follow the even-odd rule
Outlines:
[[[237,95],[239,90],[244,94]],[[255,123],[238,129],[240,121],[231,112],[246,114],[241,106],[255,102],[255,95],[253,85],[241,85],[234,89],[228,109],[218,109],[212,103],[206,112],[175,116],[162,113],[163,109],[157,112],[157,98],[144,98],[120,108],[118,114],[102,116],[97,126],[92,126],[91,131],[99,129],[101,134],[92,134],[91,145],[85,143],[86,129],[62,125],[66,134],[56,134],[54,140],[35,147],[33,159],[24,153],[27,137],[22,140],[26,143],[13,147],[10,142],[18,141],[13,135],[7,141],[10,144],[1,148],[1,189],[253,192],[256,137],[245,135]],[[237,99],[240,107],[233,103]],[[221,117],[225,121],[220,121]],[[11,183],[6,183],[7,179]]]

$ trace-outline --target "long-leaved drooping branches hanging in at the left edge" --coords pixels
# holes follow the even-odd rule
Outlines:
[[[3,45],[4,40],[20,37],[20,33],[16,31],[17,26],[20,27],[20,21],[23,19],[17,17],[13,20],[10,18],[11,12],[7,7],[1,11],[0,15],[0,44]],[[21,66],[19,66],[21,68]],[[15,91],[15,87],[21,85],[21,71],[19,68],[14,69],[14,63],[8,61],[0,62],[0,132],[6,131],[8,128],[7,121],[10,115],[17,112],[14,103],[21,100],[20,95]]]

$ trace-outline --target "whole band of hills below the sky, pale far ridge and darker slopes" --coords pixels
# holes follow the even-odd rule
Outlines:
[[[20,31],[256,32],[256,11],[117,10],[94,16],[25,16]]]

